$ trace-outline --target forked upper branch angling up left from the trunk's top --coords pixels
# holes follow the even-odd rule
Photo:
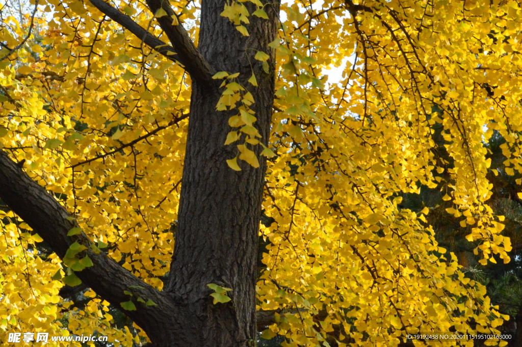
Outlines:
[[[171,60],[180,62],[193,79],[197,80],[203,85],[209,85],[212,82],[212,76],[214,75],[212,68],[198,52],[191,38],[188,37],[187,32],[181,25],[173,26],[170,23],[167,25],[166,21],[169,20],[167,19],[167,16],[158,18],[160,21],[160,26],[165,31],[165,33],[167,33],[167,37],[173,45],[169,46],[138,25],[138,23],[132,20],[131,17],[121,13],[120,10],[112,7],[105,1],[90,0],[90,2],[103,14],[119,23],[128,31],[132,32],[140,40],[143,40],[143,42],[151,47],[151,49],[159,52]],[[153,11],[153,13],[156,12]],[[170,22],[172,22],[172,18],[170,18]]]

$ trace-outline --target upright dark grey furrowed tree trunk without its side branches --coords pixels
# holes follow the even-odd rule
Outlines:
[[[240,73],[239,83],[254,95],[255,126],[267,145],[275,70],[268,44],[277,32],[277,8],[265,7],[271,20],[251,16],[250,37],[244,37],[220,16],[223,6],[222,0],[203,1],[198,49],[216,71]],[[270,55],[268,73],[254,59],[257,51]],[[257,87],[247,82],[252,73]],[[169,292],[182,298],[185,312],[180,326],[174,327],[178,340],[169,346],[248,346],[257,338],[256,254],[266,164],[259,158],[257,169],[244,162],[241,171],[228,167],[226,160],[234,158],[238,149],[236,144],[223,144],[231,130],[228,119],[238,111],[216,111],[222,92],[218,87],[197,81],[192,86],[168,286]],[[231,288],[232,300],[213,305],[209,283]]]

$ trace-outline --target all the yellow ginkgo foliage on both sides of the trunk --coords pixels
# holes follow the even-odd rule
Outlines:
[[[194,20],[188,31],[197,38],[197,5],[171,4],[177,20]],[[142,4],[117,5],[167,41]],[[41,0],[39,6],[52,16],[37,18],[41,41],[17,51],[16,65],[0,65],[0,146],[26,159],[31,177],[93,241],[108,244],[112,258],[161,288],[186,133],[186,121],[175,119],[188,112],[189,81],[89,3]],[[251,14],[243,7],[227,4],[222,16],[248,34]],[[264,18],[259,10],[253,14]],[[470,319],[478,331],[495,331],[502,323],[484,287],[437,246],[425,224],[428,211],[397,205],[402,192],[437,187],[447,170],[453,182],[447,199],[454,202],[447,212],[465,217],[461,225],[469,226],[470,241],[480,242],[483,262],[493,261],[492,254],[509,260],[503,225],[486,204],[490,163],[483,143],[500,131],[506,172],[522,171],[522,76],[518,55],[511,54],[520,50],[520,14],[516,2],[498,0],[281,5],[279,37],[270,44],[278,59],[278,111],[269,143],[278,156],[269,162],[264,204],[276,222],[262,231],[271,245],[258,299],[260,308],[300,310],[278,316],[265,337],[283,334],[286,345],[335,338],[341,346],[390,346],[406,331],[472,331]],[[0,41],[15,46],[24,27],[14,17],[4,21]],[[327,83],[331,66],[343,70],[338,83]],[[227,143],[244,139],[239,158],[256,166],[247,147],[260,145],[248,107],[256,96],[235,74],[215,76],[224,79],[216,106],[238,110]],[[255,76],[249,82],[255,86]],[[443,127],[449,169],[436,155],[435,124]],[[239,169],[236,159],[229,166]],[[68,311],[67,301],[59,303],[62,310],[40,309],[57,303],[58,261],[31,253],[38,236],[18,232],[23,226],[9,218],[0,222],[0,247],[8,250],[0,284],[2,302],[13,307],[0,313],[0,331],[89,334],[97,326],[130,345],[132,334],[110,327],[99,298],[81,311]],[[57,318],[67,318],[68,326]],[[438,345],[445,344],[452,345]]]

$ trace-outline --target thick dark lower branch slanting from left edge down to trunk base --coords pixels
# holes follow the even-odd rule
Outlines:
[[[74,242],[87,247],[81,256],[88,255],[93,266],[76,272],[76,275],[104,300],[122,309],[145,331],[154,326],[159,316],[170,308],[171,300],[160,291],[141,281],[132,273],[118,265],[104,253],[95,253],[89,238],[84,234],[67,236],[67,232],[77,226],[75,220],[45,189],[31,180],[8,155],[0,150],[0,199],[49,244],[54,252],[63,258]],[[146,306],[135,302],[136,310],[126,311],[122,302],[131,297],[124,291],[134,293],[134,300],[142,297],[159,306]]]

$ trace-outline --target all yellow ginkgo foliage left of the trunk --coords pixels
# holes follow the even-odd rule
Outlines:
[[[8,59],[0,63],[0,147],[17,160],[25,159],[26,172],[55,194],[91,240],[109,246],[105,251],[110,257],[161,289],[160,277],[168,272],[172,255],[172,223],[181,188],[181,170],[174,168],[181,167],[184,155],[187,76],[86,6],[79,1],[40,1],[46,13],[35,19],[37,34],[13,54],[16,64]],[[195,9],[180,6],[180,20],[195,19]],[[143,27],[152,20],[134,5],[122,3],[121,10],[135,15]],[[8,18],[0,41],[16,46],[27,34],[27,23],[26,18],[26,26],[19,26],[14,17]],[[159,29],[150,29],[160,35]],[[89,161],[94,158],[99,159]],[[51,258],[27,253],[34,249],[33,242],[5,231],[20,223],[12,220],[2,219],[0,225],[9,244],[4,248],[16,249],[18,257],[9,257],[13,264],[2,271],[1,283],[16,283],[11,276],[29,280],[34,292],[27,290],[28,284],[17,290],[34,303],[11,300],[29,307],[32,318],[18,314],[21,309],[2,312],[0,321],[7,319],[0,326],[2,336],[13,331],[68,329],[56,334],[81,335],[97,330],[116,345],[132,345],[137,337],[127,327],[111,326],[108,302],[93,295],[85,308],[69,309],[69,298],[56,296],[62,284],[51,278],[59,261],[52,258],[51,267]],[[65,270],[55,278],[69,273]],[[39,281],[46,287],[35,286]],[[54,312],[39,318],[34,315],[41,310],[34,308],[37,302],[41,307],[53,303]],[[34,322],[37,318],[40,325]],[[7,341],[7,335],[2,336]]]

